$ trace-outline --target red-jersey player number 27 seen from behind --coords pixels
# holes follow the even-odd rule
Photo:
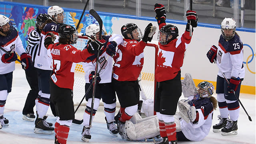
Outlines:
[[[78,38],[77,30],[67,24],[58,29],[59,42],[52,41],[54,34],[48,33],[44,45],[52,55],[52,74],[50,76],[50,101],[54,104],[57,120],[55,123],[55,144],[66,144],[68,132],[74,119],[72,90],[75,63],[83,62],[97,53],[98,48],[87,45],[82,51],[71,44]],[[93,42],[92,42],[93,43]],[[75,62],[75,63],[74,63]]]

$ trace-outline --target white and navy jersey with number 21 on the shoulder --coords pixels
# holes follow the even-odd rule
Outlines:
[[[52,70],[51,63],[52,63],[52,56],[50,54],[50,50],[47,50],[44,46],[44,38],[48,32],[52,32],[55,34],[56,39],[54,43],[58,42],[58,28],[59,25],[51,22],[44,26],[40,36],[40,44],[38,50],[36,52],[36,58],[34,60],[34,67],[39,68],[42,70]]]

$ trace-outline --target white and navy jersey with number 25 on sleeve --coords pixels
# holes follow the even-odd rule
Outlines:
[[[228,41],[220,36],[216,61],[218,76],[223,78],[223,72],[227,78],[244,78],[243,43],[237,34]]]

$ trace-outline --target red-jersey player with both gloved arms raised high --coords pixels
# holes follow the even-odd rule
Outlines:
[[[163,138],[156,144],[168,144],[168,141],[169,144],[176,144],[176,124],[173,116],[182,92],[180,68],[183,64],[184,53],[192,38],[190,24],[193,28],[196,27],[198,18],[196,12],[188,10],[185,32],[177,38],[178,28],[172,24],[166,25],[164,5],[155,4],[154,11],[159,25],[154,110],[159,119],[160,135]]]

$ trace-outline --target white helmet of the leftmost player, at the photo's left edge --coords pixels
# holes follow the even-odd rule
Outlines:
[[[0,31],[6,35],[12,32],[12,23],[10,22],[9,18],[0,14]]]

